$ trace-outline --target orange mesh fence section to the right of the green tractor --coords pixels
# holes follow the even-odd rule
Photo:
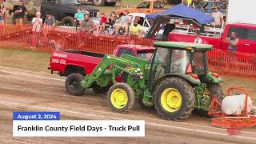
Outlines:
[[[207,53],[208,66],[218,74],[237,77],[256,76],[256,54],[218,50]]]

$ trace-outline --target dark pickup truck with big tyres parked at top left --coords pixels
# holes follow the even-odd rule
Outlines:
[[[62,26],[75,26],[74,14],[78,8],[90,13],[90,17],[97,17],[98,9],[91,6],[79,4],[76,0],[42,0],[42,18],[46,18],[46,13],[53,15],[56,20],[62,22]]]

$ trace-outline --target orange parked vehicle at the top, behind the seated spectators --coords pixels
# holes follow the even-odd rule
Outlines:
[[[127,10],[129,13],[158,13],[164,9],[164,4],[162,0],[145,0],[138,4],[138,6],[133,8],[121,8],[119,10],[116,10],[115,13],[121,16],[124,12],[124,10]]]

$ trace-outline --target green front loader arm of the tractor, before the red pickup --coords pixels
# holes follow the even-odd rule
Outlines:
[[[130,66],[134,71],[130,72],[126,69],[126,66]],[[98,63],[98,66],[95,67],[94,71],[82,80],[82,87],[89,88],[94,82],[102,82],[103,84],[99,84],[100,86],[107,86],[110,82],[110,78],[112,78],[113,83],[116,83],[115,77],[122,71],[128,74],[137,74],[142,68],[142,65],[126,58],[106,55],[102,58],[102,61]]]

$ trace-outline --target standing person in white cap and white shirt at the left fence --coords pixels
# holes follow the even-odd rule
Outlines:
[[[37,12],[36,13],[36,18],[32,19],[32,50],[36,50],[36,47],[38,46],[38,37],[41,31],[41,26],[42,26],[42,18],[41,18],[41,13]]]

